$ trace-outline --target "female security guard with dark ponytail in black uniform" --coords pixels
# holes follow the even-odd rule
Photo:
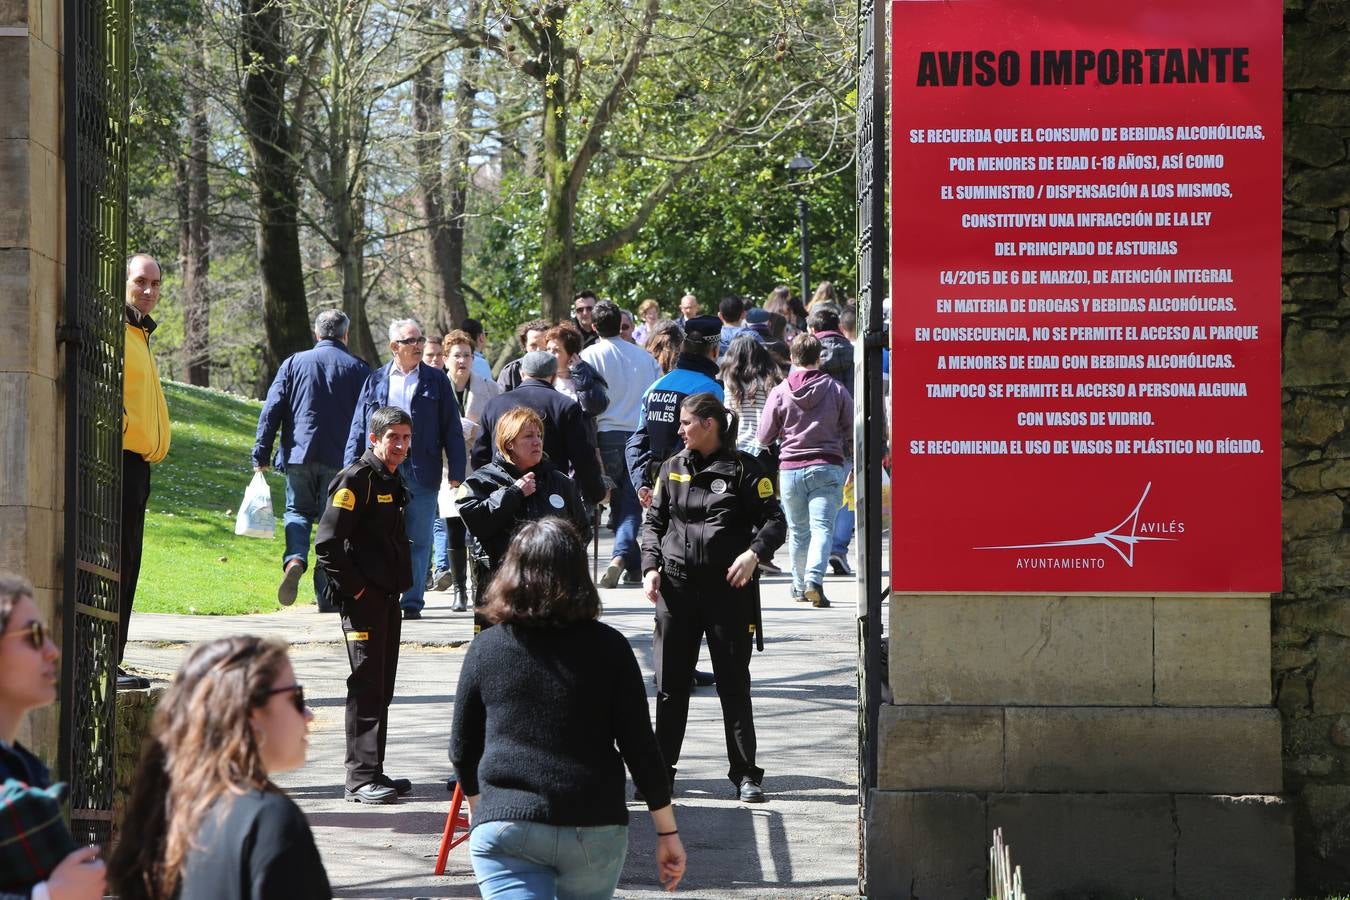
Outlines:
[[[726,731],[726,777],[745,803],[763,803],[755,765],[751,648],[756,569],[787,533],[783,510],[759,461],[736,449],[736,414],[710,393],[679,407],[684,449],[659,471],[643,522],[643,588],[656,603],[656,741],[679,762],[688,719],[690,675],[703,634]]]

